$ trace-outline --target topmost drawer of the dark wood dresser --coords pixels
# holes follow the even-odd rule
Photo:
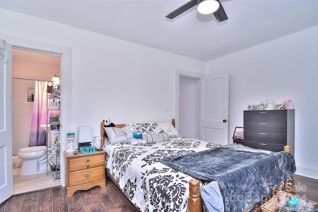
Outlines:
[[[252,122],[286,122],[287,110],[244,111],[244,121]]]

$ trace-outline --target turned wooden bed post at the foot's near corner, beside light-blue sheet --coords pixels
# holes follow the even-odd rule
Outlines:
[[[200,198],[200,182],[197,179],[191,179],[189,181],[188,211],[202,212],[202,201]]]

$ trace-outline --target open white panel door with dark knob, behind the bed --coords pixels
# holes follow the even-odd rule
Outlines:
[[[200,140],[229,143],[229,73],[200,79]]]

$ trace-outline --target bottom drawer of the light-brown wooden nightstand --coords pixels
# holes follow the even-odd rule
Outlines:
[[[85,183],[94,182],[104,179],[105,167],[90,168],[81,171],[74,171],[69,173],[68,187],[78,186]]]

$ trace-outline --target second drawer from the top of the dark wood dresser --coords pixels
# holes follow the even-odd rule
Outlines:
[[[250,121],[247,122],[247,121],[244,121],[244,130],[286,134],[286,122],[250,122]]]

